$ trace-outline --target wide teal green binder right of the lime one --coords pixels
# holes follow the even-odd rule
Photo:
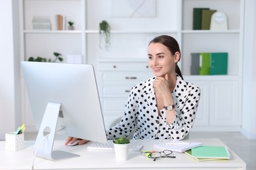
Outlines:
[[[213,52],[211,53],[210,75],[227,75],[228,74],[228,53]]]

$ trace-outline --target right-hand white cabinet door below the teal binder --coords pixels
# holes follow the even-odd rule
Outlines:
[[[238,81],[213,81],[210,90],[210,125],[239,125],[241,100],[238,95]]]

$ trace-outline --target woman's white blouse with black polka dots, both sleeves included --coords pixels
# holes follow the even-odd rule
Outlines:
[[[160,110],[156,103],[153,83],[155,77],[131,88],[127,105],[121,121],[106,130],[108,139],[125,136],[134,131],[133,139],[183,139],[194,124],[200,88],[185,82],[177,75],[173,90],[176,118],[167,124],[165,109]]]

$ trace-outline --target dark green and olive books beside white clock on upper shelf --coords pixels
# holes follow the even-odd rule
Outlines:
[[[217,10],[209,8],[194,8],[193,9],[193,29],[210,29],[211,16]]]

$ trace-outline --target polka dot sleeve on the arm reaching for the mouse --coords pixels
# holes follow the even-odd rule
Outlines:
[[[116,137],[128,137],[129,134],[135,129],[137,122],[137,112],[138,112],[138,104],[135,99],[135,87],[131,88],[131,92],[129,94],[129,98],[127,101],[127,105],[125,111],[123,112],[123,117],[120,122],[116,124],[116,126],[110,127],[106,129],[107,139],[114,140]]]

